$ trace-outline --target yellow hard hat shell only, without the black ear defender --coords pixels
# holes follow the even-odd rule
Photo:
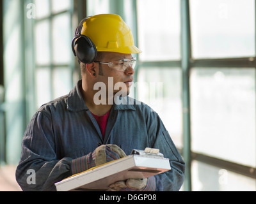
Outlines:
[[[134,46],[131,29],[119,15],[100,14],[86,18],[81,34],[93,41],[98,52],[141,53]]]

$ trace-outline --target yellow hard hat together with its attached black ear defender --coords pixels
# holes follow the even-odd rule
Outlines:
[[[115,14],[99,14],[84,18],[76,29],[72,50],[77,58],[89,64],[97,52],[138,54],[131,29]]]

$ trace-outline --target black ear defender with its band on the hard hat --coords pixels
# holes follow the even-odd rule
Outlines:
[[[79,61],[90,64],[95,61],[97,57],[97,49],[88,36],[81,34],[84,21],[89,18],[84,18],[76,28],[76,36],[72,40],[72,51]]]

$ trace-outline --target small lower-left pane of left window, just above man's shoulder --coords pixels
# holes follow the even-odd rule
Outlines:
[[[49,68],[36,69],[36,108],[51,101],[51,71]]]

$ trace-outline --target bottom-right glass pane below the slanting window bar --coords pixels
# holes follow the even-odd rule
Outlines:
[[[256,191],[256,180],[198,161],[192,162],[192,191]]]

